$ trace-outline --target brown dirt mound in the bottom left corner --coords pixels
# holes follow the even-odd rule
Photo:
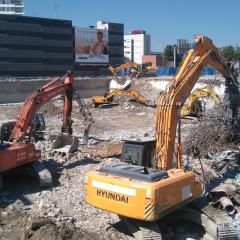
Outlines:
[[[5,229],[1,233],[0,239],[11,240],[102,240],[97,234],[89,233],[81,229],[76,229],[72,224],[62,224],[57,227],[49,218],[30,216],[26,213],[2,212],[0,218],[0,229]]]

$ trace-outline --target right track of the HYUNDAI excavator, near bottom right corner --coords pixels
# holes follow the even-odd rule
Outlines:
[[[204,200],[197,200],[197,203],[183,207],[174,216],[179,219],[190,220],[205,229],[207,239],[213,240],[235,240],[236,228],[233,219],[224,211],[214,208]]]

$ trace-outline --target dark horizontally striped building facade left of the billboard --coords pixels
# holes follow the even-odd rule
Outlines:
[[[0,15],[0,76],[58,76],[73,69],[72,21]]]

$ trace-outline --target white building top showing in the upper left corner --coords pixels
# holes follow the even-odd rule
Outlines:
[[[23,15],[23,0],[0,0],[0,14]]]

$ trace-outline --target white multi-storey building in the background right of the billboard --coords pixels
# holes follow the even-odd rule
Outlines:
[[[128,61],[142,64],[142,56],[151,53],[151,36],[145,31],[135,30],[124,35],[124,57]]]

